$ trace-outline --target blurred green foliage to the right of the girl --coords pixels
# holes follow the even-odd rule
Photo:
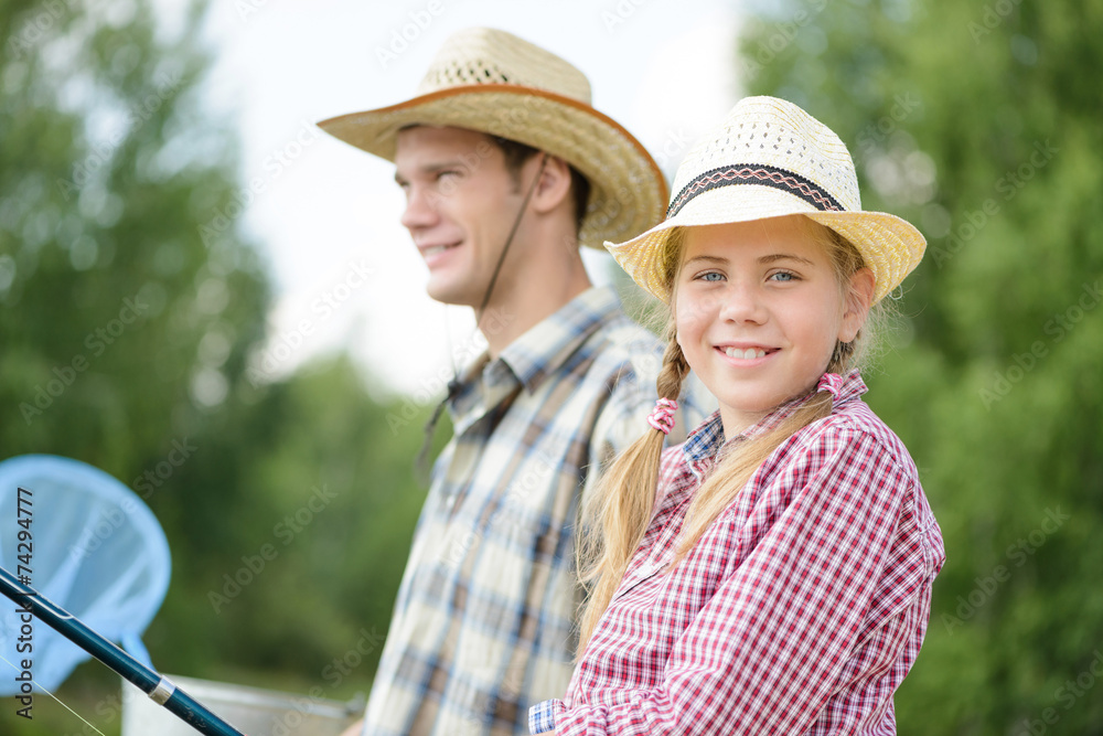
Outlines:
[[[793,0],[742,34],[749,92],[929,241],[868,376],[947,554],[903,734],[1103,733],[1100,32],[1097,0]]]

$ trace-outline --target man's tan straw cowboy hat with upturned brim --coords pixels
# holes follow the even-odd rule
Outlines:
[[[640,141],[593,109],[586,75],[504,31],[474,28],[449,38],[413,99],[318,125],[388,161],[398,131],[411,125],[468,128],[558,156],[590,182],[579,241],[595,247],[663,216],[663,174]]]

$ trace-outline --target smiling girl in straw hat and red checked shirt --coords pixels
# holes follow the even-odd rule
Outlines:
[[[925,241],[864,212],[838,137],[770,97],[674,191],[662,224],[606,244],[671,307],[665,398],[586,500],[578,664],[531,729],[895,734],[945,555],[857,367]],[[719,410],[662,454],[690,369]]]

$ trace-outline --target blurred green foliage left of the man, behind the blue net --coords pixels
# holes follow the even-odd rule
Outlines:
[[[196,94],[199,3],[172,38],[144,0],[0,19],[0,459],[74,457],[146,499],[173,556],[144,638],[161,671],[366,691],[431,407],[374,401],[340,356],[271,384],[247,370],[269,286],[219,217],[237,141]],[[117,734],[118,687],[88,662],[57,695]],[[0,733],[95,733],[45,695],[33,722],[14,711]]]

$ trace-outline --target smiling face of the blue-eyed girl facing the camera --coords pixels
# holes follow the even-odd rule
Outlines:
[[[675,284],[677,340],[720,404],[727,437],[811,391],[836,341],[858,333],[874,277],[844,297],[814,223],[773,217],[690,227]]]

